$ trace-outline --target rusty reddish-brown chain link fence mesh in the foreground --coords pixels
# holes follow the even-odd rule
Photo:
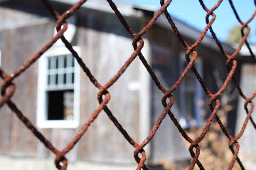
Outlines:
[[[67,165],[68,165],[68,160],[65,158],[65,154],[67,154],[75,145],[76,143],[79,141],[79,139],[84,135],[84,133],[86,132],[86,130],[88,129],[88,127],[91,125],[91,123],[97,118],[97,116],[100,114],[100,112],[102,110],[104,110],[106,112],[106,114],[108,115],[109,119],[114,123],[114,125],[116,126],[116,128],[123,134],[124,138],[135,148],[134,150],[134,159],[135,161],[138,163],[137,166],[137,170],[139,169],[143,169],[146,170],[148,169],[148,167],[144,164],[146,161],[146,152],[144,151],[144,147],[150,142],[150,140],[154,137],[154,135],[156,134],[157,129],[159,128],[162,120],[165,118],[165,116],[168,114],[170,119],[172,120],[172,122],[174,123],[174,125],[177,127],[177,129],[179,130],[180,134],[182,135],[182,137],[184,137],[189,143],[190,146],[188,148],[190,155],[192,157],[192,161],[190,163],[189,169],[194,169],[195,164],[197,164],[199,166],[200,169],[204,169],[204,166],[200,163],[200,160],[198,159],[199,154],[200,154],[200,142],[204,139],[205,134],[207,133],[209,127],[211,126],[211,123],[213,121],[213,119],[215,119],[220,128],[222,129],[222,132],[228,137],[228,139],[230,140],[229,143],[229,149],[231,150],[231,152],[233,153],[233,157],[232,160],[230,160],[230,164],[228,165],[228,169],[232,169],[234,166],[235,161],[238,162],[239,166],[241,167],[241,169],[244,169],[244,166],[242,164],[242,162],[240,161],[240,159],[238,158],[237,154],[239,151],[239,143],[237,142],[237,140],[243,135],[243,132],[246,128],[246,125],[248,123],[248,121],[250,120],[254,126],[254,128],[256,129],[256,124],[254,123],[251,114],[254,108],[254,104],[252,102],[252,99],[256,96],[256,91],[252,94],[252,96],[250,97],[246,97],[242,91],[242,89],[239,87],[238,81],[236,80],[236,78],[233,77],[233,74],[236,70],[236,66],[237,66],[237,62],[236,62],[236,56],[238,55],[239,51],[241,50],[242,45],[245,43],[247,48],[250,51],[251,57],[253,58],[253,60],[256,62],[255,56],[252,53],[252,50],[249,46],[249,43],[246,41],[246,38],[248,36],[248,34],[250,33],[250,27],[247,25],[249,22],[252,21],[252,19],[255,17],[256,15],[256,11],[254,11],[254,13],[252,14],[252,17],[249,18],[246,22],[243,22],[240,18],[239,15],[232,3],[232,0],[229,0],[229,4],[231,5],[233,12],[237,18],[237,20],[239,21],[239,23],[241,24],[241,34],[242,34],[242,41],[239,43],[238,48],[236,49],[236,51],[233,54],[228,54],[225,52],[225,50],[223,49],[220,41],[218,40],[216,34],[214,33],[214,30],[212,29],[212,24],[216,18],[216,15],[214,14],[214,10],[216,10],[222,3],[223,0],[219,0],[217,2],[217,4],[215,4],[211,9],[208,9],[205,5],[203,0],[199,0],[202,8],[204,9],[204,11],[206,11],[206,26],[204,28],[204,30],[202,31],[201,35],[198,37],[197,41],[194,42],[194,44],[192,45],[188,45],[188,43],[186,41],[183,40],[182,36],[180,35],[178,28],[175,26],[175,23],[173,22],[170,14],[167,11],[167,7],[171,4],[171,0],[167,0],[166,2],[164,2],[164,0],[160,0],[160,4],[161,4],[161,8],[155,13],[155,15],[153,16],[153,18],[151,18],[151,20],[148,22],[148,24],[143,27],[140,32],[135,33],[133,31],[133,29],[128,25],[128,23],[125,21],[124,17],[122,16],[122,14],[118,11],[116,5],[114,4],[114,2],[112,0],[107,0],[110,7],[112,8],[112,10],[116,13],[116,16],[118,17],[119,21],[121,22],[121,24],[125,27],[125,29],[127,30],[128,33],[131,34],[131,37],[133,37],[133,41],[132,41],[132,46],[134,48],[134,52],[132,53],[132,55],[127,59],[127,61],[124,63],[124,65],[119,69],[119,71],[117,72],[116,75],[114,75],[107,83],[105,83],[104,85],[100,84],[97,79],[92,75],[91,71],[89,68],[86,67],[85,63],[82,61],[82,59],[78,56],[78,54],[76,53],[76,51],[72,48],[71,44],[65,39],[65,37],[63,36],[63,33],[67,30],[68,28],[68,24],[65,22],[65,20],[71,16],[82,4],[84,4],[86,2],[86,0],[80,0],[78,1],[76,4],[74,4],[70,9],[68,9],[67,11],[65,11],[63,14],[59,14],[58,12],[54,11],[54,9],[52,8],[51,4],[47,1],[47,0],[42,0],[42,3],[44,4],[45,8],[48,9],[48,11],[52,14],[52,16],[54,16],[57,19],[57,34],[52,37],[52,39],[44,45],[43,48],[41,48],[40,51],[36,52],[29,60],[25,61],[25,63],[20,66],[19,68],[17,68],[13,73],[11,74],[6,74],[4,72],[4,70],[2,70],[0,68],[0,76],[1,78],[4,80],[4,82],[1,85],[1,94],[2,94],[2,98],[0,99],[0,107],[2,107],[4,105],[4,103],[6,103],[9,108],[18,116],[18,118],[27,126],[27,128],[29,130],[32,131],[32,133],[35,135],[35,137],[37,137],[41,142],[44,143],[45,147],[47,147],[49,150],[51,150],[55,155],[55,165],[58,169],[67,169]],[[256,0],[254,0],[254,4],[256,5]],[[153,24],[156,22],[157,18],[164,13],[165,17],[167,18],[168,22],[170,23],[170,26],[172,27],[172,29],[174,30],[174,33],[176,34],[178,40],[180,41],[180,43],[184,46],[184,48],[186,48],[186,55],[184,57],[186,57],[186,60],[188,62],[185,70],[182,72],[182,74],[180,75],[179,79],[176,81],[176,83],[174,85],[172,85],[172,87],[170,89],[165,89],[164,86],[161,85],[161,82],[158,81],[155,73],[153,72],[153,70],[151,69],[151,67],[148,65],[146,59],[144,58],[143,54],[141,53],[141,49],[144,46],[144,41],[141,38],[141,36],[145,33],[147,33],[147,31],[153,26]],[[212,16],[212,19],[209,19],[210,15]],[[244,28],[246,28],[246,32],[244,33]],[[201,76],[199,75],[198,71],[196,70],[196,68],[193,66],[193,63],[196,61],[196,57],[197,57],[197,51],[195,50],[196,46],[198,44],[201,43],[201,41],[203,40],[206,32],[210,30],[213,39],[216,41],[216,44],[218,45],[220,52],[222,53],[222,55],[224,57],[226,57],[226,67],[228,70],[228,76],[226,77],[225,82],[223,83],[222,87],[217,91],[217,92],[210,92],[209,89],[206,87],[206,85],[204,84],[203,79],[201,78]],[[68,48],[68,50],[73,54],[73,56],[76,58],[77,62],[79,63],[79,65],[81,66],[81,68],[84,70],[84,73],[87,75],[87,77],[91,80],[91,82],[93,83],[93,85],[95,85],[96,88],[99,89],[98,92],[98,101],[99,101],[99,106],[97,107],[97,109],[91,114],[90,118],[88,119],[87,122],[85,122],[83,124],[83,126],[81,127],[81,129],[77,132],[76,136],[70,141],[70,143],[66,146],[66,148],[64,148],[63,150],[59,150],[57,148],[55,148],[53,146],[53,144],[47,140],[44,135],[42,135],[37,129],[36,127],[28,120],[28,118],[26,118],[22,112],[16,107],[16,105],[12,102],[11,97],[15,91],[15,84],[13,83],[13,80],[15,78],[17,78],[20,74],[22,74],[25,70],[28,69],[29,66],[31,66],[32,64],[34,64],[36,62],[36,60],[44,54],[45,51],[47,51],[49,48],[51,48],[51,46],[58,40],[61,39],[63,41],[63,43],[65,44],[66,48]],[[192,57],[190,58],[190,54],[192,53]],[[111,113],[111,111],[108,109],[107,104],[110,100],[110,94],[108,92],[108,88],[113,85],[118,78],[120,78],[120,76],[122,76],[122,74],[124,73],[124,71],[127,69],[127,67],[129,67],[129,65],[132,63],[132,61],[139,56],[141,63],[145,66],[145,68],[148,70],[148,73],[150,74],[152,80],[154,81],[155,85],[159,88],[159,90],[161,90],[163,92],[163,97],[162,97],[162,104],[164,107],[163,112],[161,113],[160,117],[158,118],[158,120],[155,122],[153,128],[151,129],[150,133],[148,134],[148,136],[145,138],[145,140],[141,143],[138,144],[136,141],[133,140],[133,138],[126,132],[126,130],[122,127],[122,125],[117,121],[117,119],[115,118],[115,116]],[[202,130],[202,133],[199,137],[197,137],[195,140],[193,140],[192,138],[190,138],[187,133],[184,131],[184,129],[182,129],[182,127],[180,126],[179,122],[177,121],[177,119],[174,117],[174,115],[171,112],[171,108],[172,105],[174,103],[174,97],[172,96],[172,92],[175,91],[179,85],[181,84],[182,80],[185,78],[186,74],[188,73],[188,71],[192,69],[193,72],[195,73],[195,76],[197,78],[197,80],[200,82],[202,88],[204,89],[204,92],[210,97],[209,100],[209,107],[212,111],[204,129]],[[228,83],[230,82],[230,80],[232,79],[232,81],[234,81],[234,83],[236,84],[236,89],[239,91],[239,94],[241,97],[244,98],[245,102],[244,102],[244,109],[245,112],[247,114],[243,126],[241,128],[241,130],[239,131],[239,133],[236,136],[231,136],[227,129],[224,127],[224,125],[222,124],[220,118],[218,117],[218,109],[220,108],[220,99],[218,99],[218,96],[221,95],[221,93],[226,89]],[[105,98],[103,99],[103,95],[105,96]],[[169,102],[166,102],[166,99],[169,98]],[[247,105],[250,104],[250,109],[248,109]],[[195,151],[193,151],[193,148],[195,148]],[[141,154],[141,156],[139,157],[139,153]],[[61,163],[62,162],[62,163]]]

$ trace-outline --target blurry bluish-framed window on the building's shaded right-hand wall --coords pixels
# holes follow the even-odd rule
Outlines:
[[[185,59],[185,53],[180,55],[180,74],[187,67],[188,63]],[[194,67],[202,77],[202,60],[200,57],[196,58]],[[183,79],[180,85],[180,119],[179,123],[183,128],[199,127],[202,124],[204,96],[203,89],[197,80],[192,69]]]

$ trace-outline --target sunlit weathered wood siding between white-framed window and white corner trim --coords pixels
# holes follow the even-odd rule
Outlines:
[[[77,36],[78,45],[82,48],[82,59],[101,84],[109,81],[133,52],[131,39],[115,34],[80,28]],[[111,99],[108,107],[124,129],[135,141],[138,141],[139,89],[129,89],[134,81],[139,81],[138,59],[135,59],[127,71],[109,88]],[[98,107],[97,92],[98,89],[82,72],[81,123]],[[78,155],[83,160],[100,162],[115,160],[117,163],[134,161],[133,147],[124,139],[104,111],[92,123],[78,145],[80,148]]]

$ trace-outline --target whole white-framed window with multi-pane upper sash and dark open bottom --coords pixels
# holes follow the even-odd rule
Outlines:
[[[78,55],[80,48],[73,47]],[[65,47],[50,49],[38,61],[37,126],[77,128],[80,67]]]

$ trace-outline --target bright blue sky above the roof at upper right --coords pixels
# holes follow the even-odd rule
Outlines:
[[[119,0],[132,4],[147,4],[154,5],[160,8],[160,0]],[[204,0],[205,6],[210,9],[218,0]],[[242,21],[246,22],[252,16],[255,10],[253,0],[233,0],[238,15]],[[203,30],[206,26],[205,15],[206,12],[201,7],[198,0],[172,0],[167,8],[171,16],[187,23],[196,29]],[[231,9],[228,0],[223,0],[218,9],[214,11],[216,20],[212,28],[217,34],[220,41],[225,42],[228,37],[229,30],[236,25],[239,25],[236,17]],[[249,42],[256,43],[256,21],[255,19],[249,24],[251,27]],[[178,28],[179,29],[179,28]],[[210,32],[207,32],[210,35]]]

